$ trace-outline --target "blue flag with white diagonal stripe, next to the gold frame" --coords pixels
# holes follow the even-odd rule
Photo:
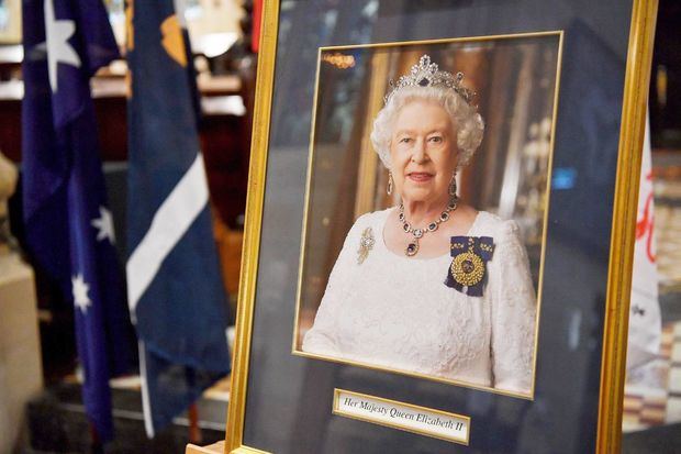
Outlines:
[[[230,372],[226,299],[172,0],[129,7],[129,304],[149,436]]]

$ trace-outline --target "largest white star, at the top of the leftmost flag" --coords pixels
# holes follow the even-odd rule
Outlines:
[[[69,20],[55,18],[54,0],[45,0],[45,35],[47,38],[47,71],[49,73],[49,87],[57,92],[57,64],[64,63],[80,67],[80,57],[68,38],[76,32],[76,24]]]

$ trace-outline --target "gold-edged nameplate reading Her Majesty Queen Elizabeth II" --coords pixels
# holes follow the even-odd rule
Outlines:
[[[337,388],[333,413],[466,445],[470,435],[469,417]]]

